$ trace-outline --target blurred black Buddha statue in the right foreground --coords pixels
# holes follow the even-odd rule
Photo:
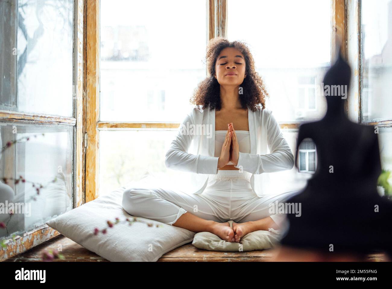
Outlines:
[[[351,69],[340,49],[337,53],[321,88],[327,113],[319,121],[299,126],[296,167],[299,144],[310,138],[316,144],[317,169],[307,186],[286,200],[301,203],[301,216],[287,213],[289,227],[281,245],[321,253],[382,251],[392,256],[392,201],[377,192],[378,130],[347,118],[344,101]]]

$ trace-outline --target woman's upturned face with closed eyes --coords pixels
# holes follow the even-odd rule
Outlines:
[[[222,49],[215,63],[215,78],[220,85],[240,85],[245,75],[245,57],[233,48]]]

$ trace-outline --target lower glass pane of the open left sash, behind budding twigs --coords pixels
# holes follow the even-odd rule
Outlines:
[[[0,229],[0,237],[35,229],[71,210],[73,128],[0,123],[0,132],[0,203],[15,212],[0,214],[8,229]],[[25,181],[15,184],[20,176]]]

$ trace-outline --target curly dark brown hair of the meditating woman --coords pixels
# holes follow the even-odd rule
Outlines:
[[[265,89],[263,80],[254,70],[253,56],[247,44],[242,41],[230,42],[223,37],[212,38],[209,41],[205,60],[210,76],[198,84],[189,102],[196,106],[202,105],[203,110],[208,105],[210,105],[210,110],[221,110],[220,84],[214,77],[215,64],[220,52],[227,47],[238,49],[245,57],[245,73],[247,77],[241,84],[243,88],[243,95],[240,97],[241,106],[244,109],[249,106],[253,112],[260,109],[260,104],[262,108],[265,108],[265,97],[269,97],[269,95]]]

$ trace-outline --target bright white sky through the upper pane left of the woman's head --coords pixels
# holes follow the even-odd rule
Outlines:
[[[202,68],[207,44],[206,9],[203,0],[101,0],[100,21],[101,27],[145,26],[149,63],[154,69],[167,65],[168,60],[170,68]]]

